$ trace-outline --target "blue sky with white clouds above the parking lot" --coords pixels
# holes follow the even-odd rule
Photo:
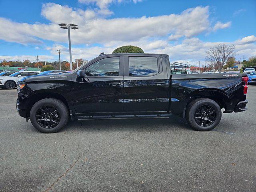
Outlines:
[[[72,57],[132,44],[171,61],[203,61],[220,42],[234,43],[237,58],[256,56],[256,1],[0,0],[0,60],[68,60],[67,31],[73,22]]]

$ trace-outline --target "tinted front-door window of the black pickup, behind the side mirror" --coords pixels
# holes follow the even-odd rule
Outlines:
[[[85,73],[92,77],[118,76],[119,60],[119,57],[110,57],[98,60],[88,66]]]

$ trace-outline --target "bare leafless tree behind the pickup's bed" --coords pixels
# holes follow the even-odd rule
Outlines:
[[[235,56],[235,45],[234,44],[218,44],[211,47],[206,51],[206,60],[214,65],[221,72],[224,64],[228,61],[228,58]]]

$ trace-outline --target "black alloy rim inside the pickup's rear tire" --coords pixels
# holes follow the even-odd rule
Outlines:
[[[196,110],[194,117],[198,125],[207,127],[215,122],[216,110],[213,106],[202,105]]]

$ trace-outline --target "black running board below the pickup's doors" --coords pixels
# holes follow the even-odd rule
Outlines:
[[[78,120],[93,119],[148,119],[148,118],[169,118],[169,114],[158,115],[108,115],[108,116],[78,116]]]

